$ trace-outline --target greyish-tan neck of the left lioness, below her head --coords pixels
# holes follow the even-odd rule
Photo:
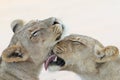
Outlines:
[[[31,62],[2,62],[1,68],[1,70],[3,70],[2,78],[4,76],[5,79],[8,78],[8,80],[39,80],[39,73],[36,70],[36,66]]]

